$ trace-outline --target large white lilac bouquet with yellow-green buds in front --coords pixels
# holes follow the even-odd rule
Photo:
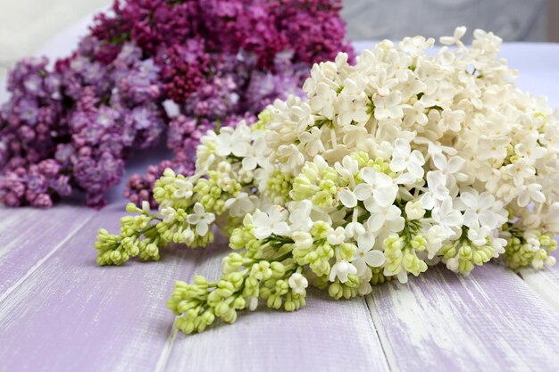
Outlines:
[[[101,230],[100,265],[158,260],[166,244],[205,246],[213,225],[235,251],[217,280],[177,282],[168,306],[186,333],[261,300],[305,305],[401,283],[442,262],[467,275],[492,259],[553,265],[559,232],[558,117],[515,89],[501,39],[474,31],[385,40],[315,64],[306,98],[277,100],[248,127],[209,131],[191,177],[164,171],[158,211],[129,204],[121,234]]]

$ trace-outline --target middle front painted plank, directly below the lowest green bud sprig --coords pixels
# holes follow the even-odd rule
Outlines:
[[[220,253],[206,252],[196,274],[218,277]],[[305,308],[293,313],[263,305],[238,315],[233,325],[216,325],[198,335],[176,335],[162,370],[389,370],[363,299],[335,301],[328,294],[311,291]]]

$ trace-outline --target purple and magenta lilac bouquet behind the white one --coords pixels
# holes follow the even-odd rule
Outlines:
[[[166,132],[173,159],[126,191],[155,206],[154,181],[167,167],[192,173],[208,129],[254,122],[274,99],[303,95],[314,62],[351,54],[339,9],[338,0],[116,0],[54,69],[30,58],[12,71],[0,202],[47,207],[78,188],[101,207],[129,154]]]

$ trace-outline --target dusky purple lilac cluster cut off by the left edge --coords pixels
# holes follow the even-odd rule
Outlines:
[[[48,207],[50,193],[70,193],[69,178],[48,159],[68,137],[61,77],[46,58],[19,62],[8,79],[11,100],[0,108],[0,197],[8,206]]]

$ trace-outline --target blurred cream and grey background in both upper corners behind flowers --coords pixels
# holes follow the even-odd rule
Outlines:
[[[112,0],[0,0],[0,77],[57,32]],[[452,35],[458,25],[505,41],[559,42],[559,0],[344,0],[353,40]],[[2,69],[2,67],[4,69]]]

